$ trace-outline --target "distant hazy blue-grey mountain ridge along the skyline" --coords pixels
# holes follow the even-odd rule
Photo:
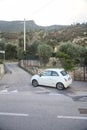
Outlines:
[[[24,27],[24,21],[0,21],[0,31],[3,32],[22,32]],[[26,21],[26,30],[54,30],[61,29],[63,25],[52,25],[52,26],[39,26],[33,20]]]

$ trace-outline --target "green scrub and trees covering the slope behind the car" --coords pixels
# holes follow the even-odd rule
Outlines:
[[[20,21],[18,24],[15,21],[12,25],[19,26],[19,23]],[[41,65],[46,66],[49,58],[54,57],[59,58],[61,65],[67,70],[72,70],[78,63],[87,65],[87,23],[56,29],[38,28],[34,22],[33,27],[36,29],[29,30],[29,26],[27,22],[26,52],[24,52],[23,24],[19,28],[16,27],[19,29],[17,32],[11,30],[0,32],[0,50],[6,52],[6,60],[39,57]],[[3,59],[2,54],[0,59]],[[58,64],[53,61],[53,66]]]

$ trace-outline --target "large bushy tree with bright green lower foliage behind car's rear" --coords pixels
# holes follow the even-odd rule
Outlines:
[[[56,57],[61,59],[61,63],[66,70],[72,70],[80,53],[81,47],[79,45],[68,42],[60,45]]]

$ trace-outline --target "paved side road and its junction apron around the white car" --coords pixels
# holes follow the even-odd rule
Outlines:
[[[34,88],[30,83],[31,75],[19,68],[17,63],[6,63],[6,71],[7,73],[0,80],[0,93],[26,91],[54,95],[64,94],[71,97],[87,95],[87,82],[73,81],[72,85],[63,91],[43,86]]]

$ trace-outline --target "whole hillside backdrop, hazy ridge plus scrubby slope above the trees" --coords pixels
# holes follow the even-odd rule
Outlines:
[[[0,21],[0,40],[4,39],[5,43],[18,44],[19,39],[23,40],[23,25],[23,21]],[[87,46],[87,23],[41,27],[34,21],[26,21],[26,38],[30,44],[35,40],[52,42],[52,44],[72,41],[72,43]]]

